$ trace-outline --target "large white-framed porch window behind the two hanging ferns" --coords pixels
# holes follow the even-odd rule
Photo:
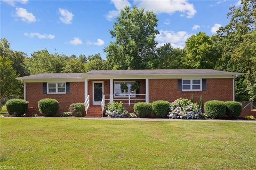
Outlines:
[[[122,83],[126,83],[126,85],[128,86],[128,90],[127,91],[122,91],[121,90],[121,84]],[[128,96],[130,94],[131,97],[135,97],[136,91],[132,91],[131,90],[131,86],[132,84],[135,83],[135,81],[118,81],[118,82],[114,82],[114,95],[115,97],[125,97]]]

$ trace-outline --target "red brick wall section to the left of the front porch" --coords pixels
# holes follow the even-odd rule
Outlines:
[[[37,103],[45,98],[59,101],[58,114],[68,111],[71,103],[84,102],[84,82],[70,82],[68,94],[43,94],[43,83],[26,83],[26,100],[29,101],[28,114],[39,114]]]

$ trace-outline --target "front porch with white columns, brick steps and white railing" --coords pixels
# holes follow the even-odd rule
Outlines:
[[[126,85],[123,90],[121,85]],[[137,84],[134,90],[133,85]],[[122,101],[127,111],[137,102],[149,102],[148,79],[85,79],[86,117],[103,117],[105,105]]]

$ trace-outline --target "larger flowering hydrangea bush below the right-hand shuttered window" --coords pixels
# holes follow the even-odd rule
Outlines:
[[[180,98],[170,103],[167,116],[170,119],[199,119],[203,117],[203,114],[197,103]]]

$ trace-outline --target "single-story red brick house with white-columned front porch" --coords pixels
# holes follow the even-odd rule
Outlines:
[[[37,102],[44,98],[59,101],[59,113],[71,103],[85,104],[86,117],[101,117],[102,108],[111,101],[123,101],[128,111],[137,102],[179,98],[195,101],[233,101],[234,80],[241,74],[212,69],[97,70],[86,73],[38,74],[18,79],[24,82],[24,98],[29,114],[38,114]],[[139,88],[131,90],[137,82]],[[121,84],[128,90],[123,91]]]

